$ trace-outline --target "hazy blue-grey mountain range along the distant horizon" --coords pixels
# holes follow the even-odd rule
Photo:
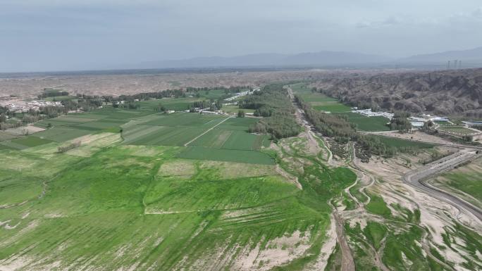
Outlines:
[[[233,57],[199,57],[182,60],[149,61],[128,65],[134,69],[156,68],[242,68],[242,67],[381,67],[402,65],[410,67],[427,67],[436,65],[443,68],[447,61],[462,61],[464,68],[482,67],[482,47],[462,51],[445,51],[442,53],[420,54],[407,58],[389,58],[366,53],[347,51],[319,51],[315,53],[257,53]],[[126,67],[123,67],[126,68]]]

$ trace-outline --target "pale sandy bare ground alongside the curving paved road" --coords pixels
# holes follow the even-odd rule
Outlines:
[[[409,172],[411,168],[419,168],[421,166],[417,162],[418,160],[420,159],[416,156],[403,156],[402,158],[371,159],[370,163],[359,163],[357,159],[354,161],[362,172],[376,178],[376,182],[369,190],[373,194],[382,196],[383,201],[388,204],[388,208],[390,208],[392,213],[400,214],[398,210],[390,206],[390,203],[400,204],[400,206],[409,210],[420,210],[420,225],[426,231],[423,244],[421,245],[427,256],[435,260],[430,247],[444,246],[443,234],[446,234],[447,229],[455,228],[455,221],[474,229],[476,232],[482,231],[482,225],[471,213],[463,212],[450,203],[440,201],[438,198],[434,198],[430,194],[426,194],[426,192],[418,191],[402,182],[402,176],[406,172]],[[370,217],[371,215],[364,212],[364,210],[345,213],[345,219],[347,220],[373,219]],[[462,256],[470,256],[464,249],[438,250],[438,253],[453,263],[454,268],[440,262],[447,269],[466,270],[462,266],[464,263]]]

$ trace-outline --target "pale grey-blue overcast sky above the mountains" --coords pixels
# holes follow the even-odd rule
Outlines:
[[[481,0],[0,0],[0,72],[482,46]]]

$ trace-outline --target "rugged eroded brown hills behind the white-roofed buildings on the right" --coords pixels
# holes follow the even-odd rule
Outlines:
[[[314,84],[353,105],[482,117],[482,69],[349,74]]]

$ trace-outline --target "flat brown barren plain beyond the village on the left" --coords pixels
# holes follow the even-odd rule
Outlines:
[[[351,73],[352,71],[350,71]],[[354,72],[354,71],[353,71]],[[183,87],[230,87],[261,86],[268,82],[281,80],[318,79],[347,73],[337,70],[278,70],[247,71],[232,73],[162,73],[151,74],[66,74],[36,75],[25,74],[21,77],[0,77],[0,96],[29,96],[39,94],[44,88],[64,89],[70,94],[111,95],[135,94],[139,92],[158,92],[165,89]]]

